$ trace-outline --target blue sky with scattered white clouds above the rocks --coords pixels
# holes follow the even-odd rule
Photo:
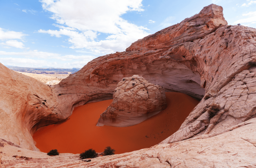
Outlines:
[[[82,68],[211,3],[229,25],[256,28],[256,0],[1,0],[0,62]]]

